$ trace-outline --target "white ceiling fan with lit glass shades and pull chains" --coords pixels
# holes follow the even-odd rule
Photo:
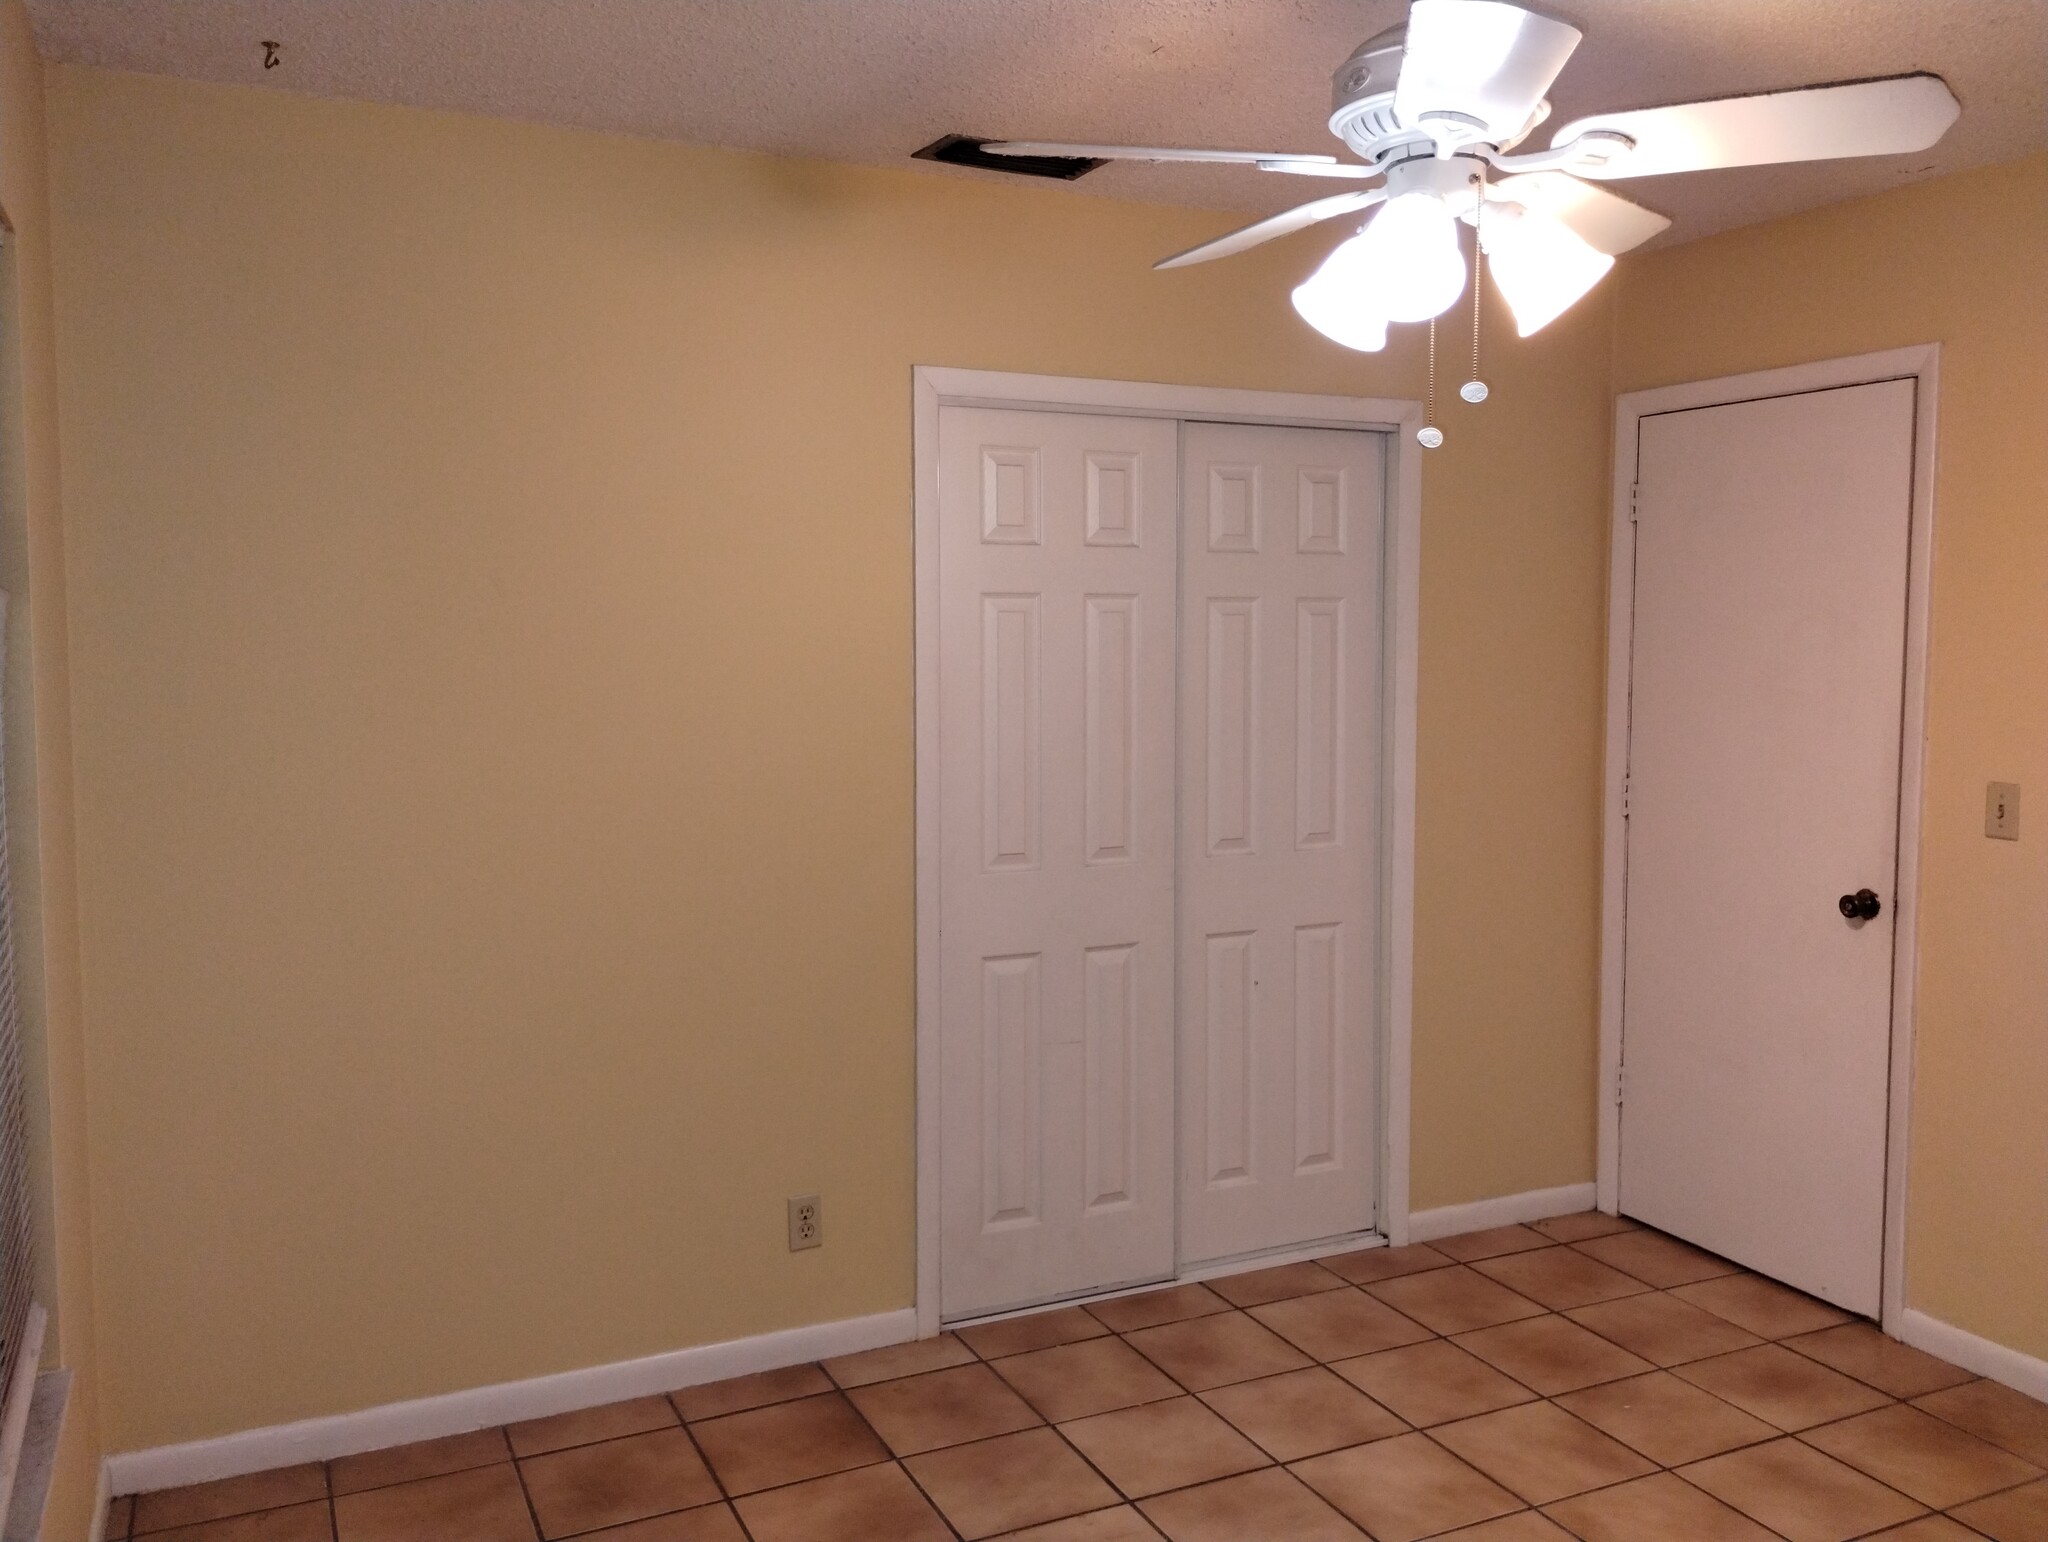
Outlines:
[[[1550,117],[1544,92],[1581,37],[1577,27],[1505,0],[1413,0],[1405,27],[1362,43],[1333,78],[1329,131],[1358,160],[1026,139],[983,149],[1376,182],[1311,199],[1155,264],[1210,262],[1380,205],[1294,289],[1294,309],[1317,332],[1376,350],[1386,346],[1389,324],[1434,324],[1464,293],[1458,221],[1475,227],[1475,262],[1485,256],[1526,338],[1575,305],[1616,256],[1671,223],[1595,182],[1894,156],[1929,147],[1962,111],[1939,76],[1907,74],[1595,113],[1556,129],[1548,149],[1520,152]],[[1485,385],[1475,379],[1464,395],[1485,399]],[[1440,444],[1442,434],[1430,426],[1423,442]]]

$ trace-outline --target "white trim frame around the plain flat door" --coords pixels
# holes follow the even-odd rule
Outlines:
[[[1608,547],[1608,747],[1599,870],[1599,1157],[1597,1204],[1620,1204],[1622,962],[1628,915],[1628,735],[1636,590],[1636,436],[1667,412],[1722,408],[1759,397],[1833,391],[1880,381],[1913,389],[1913,500],[1907,539],[1905,709],[1898,735],[1898,881],[1892,895],[1890,1087],[1884,1126],[1884,1263],[1880,1321],[1896,1335],[1907,1276],[1907,1147],[1913,1104],[1913,981],[1919,965],[1921,805],[1927,768],[1927,614],[1933,573],[1935,397],[1942,344],[1688,381],[1630,391],[1614,401],[1614,530]]]

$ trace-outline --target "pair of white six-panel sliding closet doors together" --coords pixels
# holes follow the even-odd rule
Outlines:
[[[948,1319],[1374,1220],[1384,438],[940,414]]]

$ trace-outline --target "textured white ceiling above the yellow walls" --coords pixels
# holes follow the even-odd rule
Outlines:
[[[942,133],[1333,152],[1329,74],[1405,0],[29,0],[45,57],[932,176]],[[1554,121],[1933,70],[1962,121],[1921,156],[1616,184],[1663,242],[2048,145],[2048,0],[1559,0],[1585,31]],[[262,68],[262,39],[283,63]],[[1538,131],[1534,145],[1546,143]],[[1106,166],[1073,184],[1270,213],[1327,186]]]

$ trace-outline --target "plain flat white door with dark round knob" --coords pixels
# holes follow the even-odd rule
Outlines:
[[[1636,469],[1620,1204],[1866,1315],[1913,391],[1645,418]]]

